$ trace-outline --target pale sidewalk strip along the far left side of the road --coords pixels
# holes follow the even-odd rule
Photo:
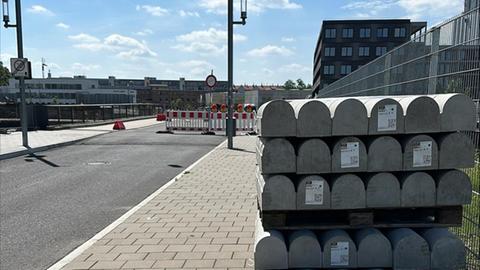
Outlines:
[[[158,124],[155,118],[124,122],[127,129],[147,127]],[[39,130],[28,132],[29,145],[31,148],[48,147],[68,142],[78,141],[93,136],[113,132],[113,124],[92,126],[85,128],[73,128],[64,130]],[[24,152],[27,149],[22,146],[22,133],[0,134],[0,158],[2,155],[10,155]]]

